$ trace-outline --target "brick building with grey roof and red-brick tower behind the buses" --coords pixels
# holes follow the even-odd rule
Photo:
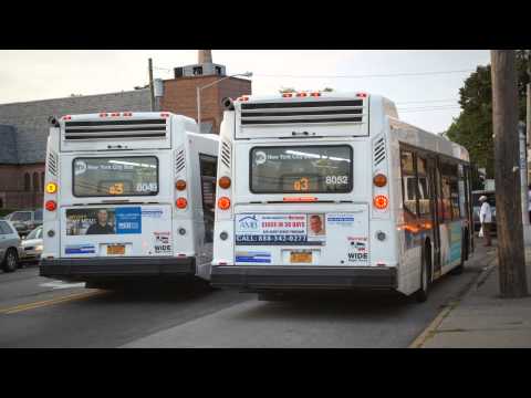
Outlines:
[[[198,63],[175,69],[164,81],[162,111],[197,119],[196,87],[226,77],[210,50],[199,50]],[[251,82],[228,77],[201,92],[201,132],[219,133],[221,100],[251,94]],[[0,98],[1,100],[1,98]],[[149,88],[0,105],[0,210],[42,206],[49,117],[67,114],[150,111]]]

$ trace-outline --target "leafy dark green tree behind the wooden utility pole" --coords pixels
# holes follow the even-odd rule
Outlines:
[[[530,50],[517,51],[519,115],[525,121],[525,85],[530,82]],[[494,177],[494,146],[492,140],[492,81],[490,65],[478,66],[459,90],[460,115],[447,130],[447,136],[466,147],[470,160],[485,167],[487,178]]]

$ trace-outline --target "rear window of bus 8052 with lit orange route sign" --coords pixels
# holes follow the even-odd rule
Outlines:
[[[352,147],[254,147],[250,159],[253,193],[344,193],[352,190]]]

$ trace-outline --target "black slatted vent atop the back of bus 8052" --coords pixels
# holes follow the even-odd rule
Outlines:
[[[241,125],[362,123],[364,100],[242,103]]]

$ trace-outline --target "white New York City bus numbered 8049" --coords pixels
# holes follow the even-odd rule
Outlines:
[[[52,119],[43,276],[108,286],[210,277],[218,136],[170,113]]]

